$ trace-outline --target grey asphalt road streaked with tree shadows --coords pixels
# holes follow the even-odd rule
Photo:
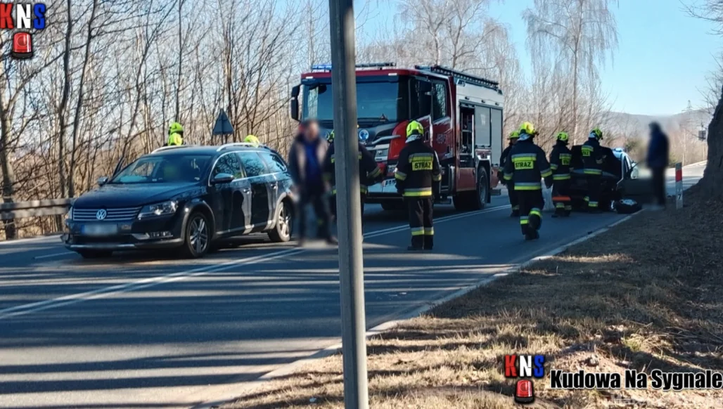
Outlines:
[[[702,170],[687,168],[685,184]],[[434,253],[409,254],[406,215],[369,206],[368,326],[622,218],[546,218],[542,239],[524,242],[509,211],[506,197],[440,207]],[[57,237],[0,244],[0,408],[184,408],[338,343],[336,250],[239,244],[201,260],[102,261]]]

